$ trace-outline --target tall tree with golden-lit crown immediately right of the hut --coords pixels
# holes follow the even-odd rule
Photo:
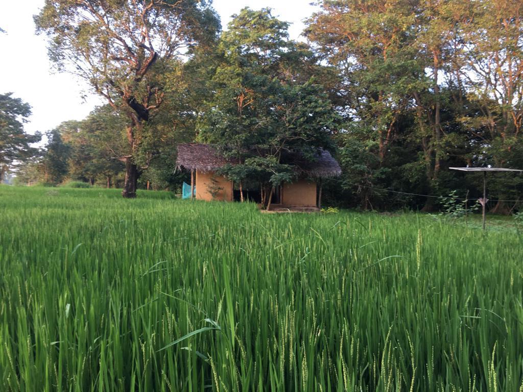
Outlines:
[[[427,84],[415,47],[419,21],[412,0],[326,0],[308,21],[306,36],[338,71],[334,95],[345,124],[337,141],[350,183],[388,187],[394,179],[394,144],[410,120],[413,91]],[[358,195],[365,207],[379,198],[371,188]]]

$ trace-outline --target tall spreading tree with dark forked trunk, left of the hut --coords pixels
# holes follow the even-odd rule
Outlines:
[[[86,79],[128,117],[122,194],[135,197],[142,170],[137,154],[147,123],[164,102],[173,61],[196,43],[212,41],[218,18],[197,0],[46,0],[35,22],[47,33],[49,56],[59,69]]]

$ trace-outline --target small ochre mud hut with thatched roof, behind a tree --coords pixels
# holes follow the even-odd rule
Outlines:
[[[321,203],[321,180],[339,176],[342,172],[330,153],[320,150],[314,162],[306,162],[299,157],[290,157],[299,168],[298,179],[283,183],[275,190],[272,205],[285,207],[316,207]],[[218,175],[215,171],[228,164],[214,146],[210,144],[179,144],[176,165],[196,172],[194,185],[196,199],[200,200],[240,200],[240,191],[233,181]],[[246,199],[260,202],[258,187],[244,188]]]

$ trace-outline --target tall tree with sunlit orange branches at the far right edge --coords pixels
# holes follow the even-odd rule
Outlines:
[[[467,45],[459,52],[460,74],[479,109],[463,116],[479,139],[475,160],[500,167],[523,165],[523,4],[516,0],[472,2],[460,28]],[[499,199],[513,198],[499,183]],[[521,180],[519,180],[521,186]],[[494,212],[508,213],[498,202]]]

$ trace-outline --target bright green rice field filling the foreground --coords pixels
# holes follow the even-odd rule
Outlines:
[[[522,391],[523,238],[0,187],[2,391]]]

